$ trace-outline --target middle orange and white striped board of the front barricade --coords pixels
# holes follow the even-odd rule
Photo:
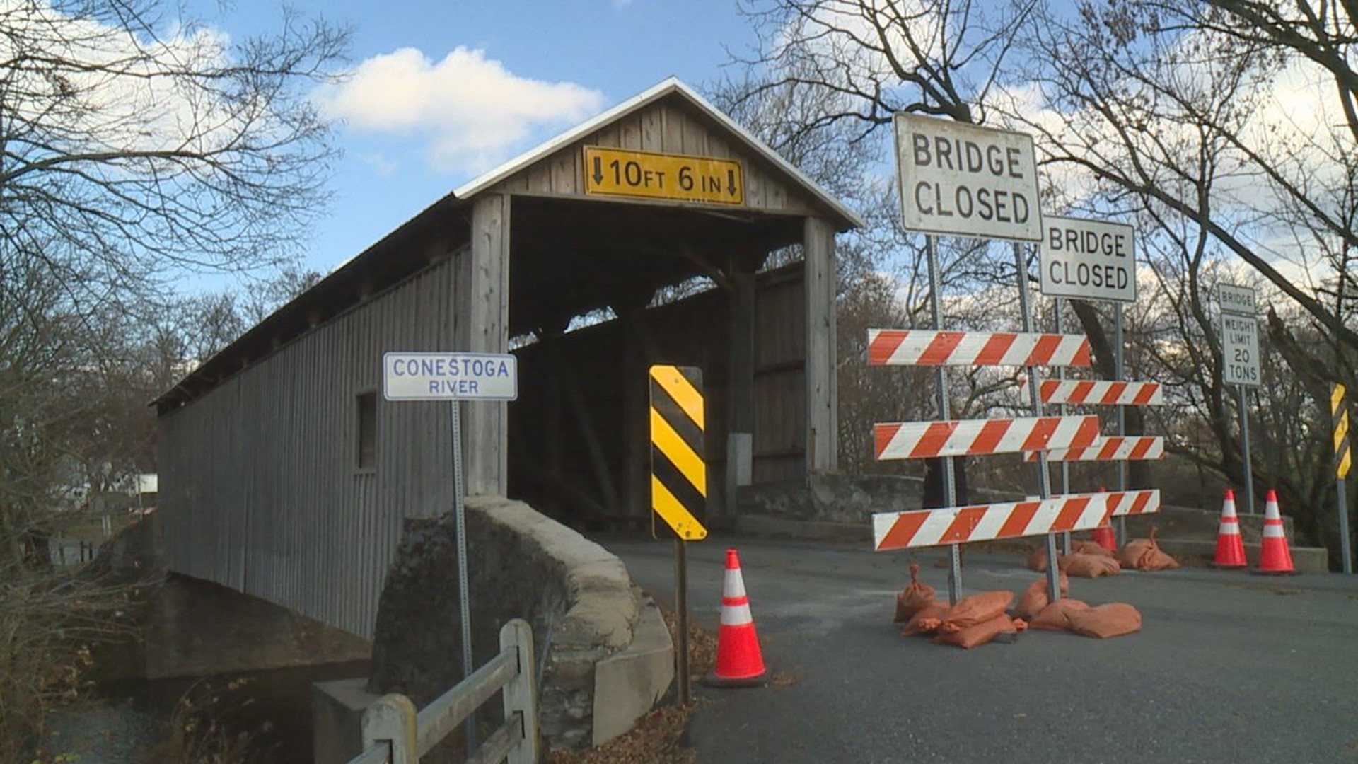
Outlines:
[[[1080,449],[1099,438],[1099,417],[1029,416],[873,424],[877,461]]]

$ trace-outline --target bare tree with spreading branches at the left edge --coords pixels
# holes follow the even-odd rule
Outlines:
[[[23,454],[0,474],[0,533],[52,500],[39,474],[69,483],[53,470],[87,413],[72,393],[122,362],[120,315],[186,271],[295,257],[333,155],[307,92],[345,41],[285,15],[230,42],[155,0],[0,10],[0,390]]]

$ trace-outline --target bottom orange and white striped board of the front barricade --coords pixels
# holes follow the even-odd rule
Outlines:
[[[1067,493],[999,504],[875,513],[873,549],[914,549],[1092,530],[1108,518],[1160,511],[1160,489]]]

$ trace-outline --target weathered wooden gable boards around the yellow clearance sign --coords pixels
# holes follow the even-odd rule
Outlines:
[[[585,145],[603,145],[660,154],[737,159],[744,167],[746,208],[789,215],[818,213],[809,200],[775,177],[777,170],[770,163],[740,151],[736,144],[722,137],[725,133],[725,129],[712,124],[697,110],[686,106],[683,101],[678,98],[661,99],[600,128],[540,162],[535,162],[494,188],[509,193],[584,197],[583,150]],[[599,198],[618,201],[617,197]],[[649,200],[646,204],[678,203]],[[703,207],[697,203],[683,204]],[[728,205],[716,207],[731,209]]]

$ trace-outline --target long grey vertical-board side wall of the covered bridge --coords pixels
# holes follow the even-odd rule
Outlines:
[[[455,347],[452,257],[160,417],[170,568],[371,639],[406,517],[452,506],[451,421],[382,400],[384,349]],[[378,390],[376,468],[357,469],[357,396]],[[504,405],[504,404],[489,404]]]

